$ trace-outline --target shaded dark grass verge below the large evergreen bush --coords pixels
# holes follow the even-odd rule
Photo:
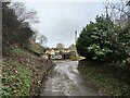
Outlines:
[[[107,63],[82,61],[79,72],[87,82],[112,96],[130,96],[129,68]]]

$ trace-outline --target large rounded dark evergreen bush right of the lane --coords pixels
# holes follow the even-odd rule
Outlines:
[[[117,26],[103,15],[95,20],[82,29],[76,44],[78,53],[100,61],[122,61],[130,57],[130,27]]]

